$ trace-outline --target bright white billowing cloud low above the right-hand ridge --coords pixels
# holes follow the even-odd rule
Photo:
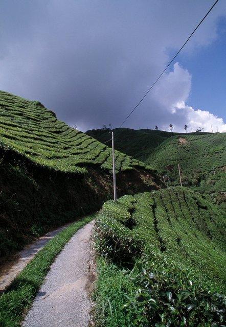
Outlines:
[[[184,69],[179,63],[175,63],[173,71],[164,74],[161,81],[156,85],[151,101],[154,100],[155,107],[159,112],[168,112],[164,115],[164,123],[161,129],[169,129],[169,124],[173,124],[174,131],[185,132],[185,124],[188,131],[196,131],[202,129],[205,132],[226,132],[226,124],[222,118],[218,118],[213,113],[194,109],[186,105],[192,87],[191,74]]]

